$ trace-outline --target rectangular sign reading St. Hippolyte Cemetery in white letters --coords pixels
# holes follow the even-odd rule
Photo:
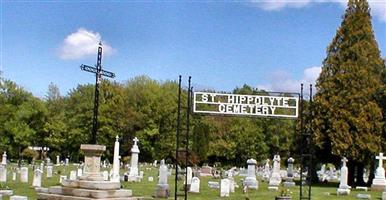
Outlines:
[[[297,118],[298,96],[271,96],[194,92],[193,112],[246,115],[264,117]]]

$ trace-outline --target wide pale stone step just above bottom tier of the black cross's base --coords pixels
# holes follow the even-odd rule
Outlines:
[[[76,197],[91,197],[95,199],[131,197],[131,190],[89,190],[80,188],[69,188],[53,186],[48,189],[48,193],[57,195],[68,195]]]

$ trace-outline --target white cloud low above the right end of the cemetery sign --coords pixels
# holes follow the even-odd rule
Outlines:
[[[257,88],[275,92],[300,92],[300,84],[303,83],[304,91],[308,93],[310,84],[312,84],[313,89],[315,89],[315,82],[321,71],[321,67],[306,68],[300,80],[292,79],[285,71],[276,71],[270,75],[271,78],[268,84],[258,85]]]

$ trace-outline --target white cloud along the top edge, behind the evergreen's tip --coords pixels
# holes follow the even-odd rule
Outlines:
[[[346,8],[347,0],[251,0],[253,5],[267,10],[279,11],[285,8],[303,8],[313,3],[338,3],[341,7]],[[371,14],[383,22],[386,22],[386,1],[385,0],[368,0]]]

